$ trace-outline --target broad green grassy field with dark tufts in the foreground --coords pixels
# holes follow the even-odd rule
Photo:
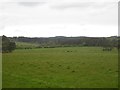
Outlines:
[[[118,87],[116,49],[41,48],[3,54],[3,88],[115,87]]]

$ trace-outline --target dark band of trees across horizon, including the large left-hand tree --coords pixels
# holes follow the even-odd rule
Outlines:
[[[120,48],[120,38],[117,36],[112,37],[6,37],[2,38],[2,52],[12,52],[16,48],[15,42],[37,43],[39,46],[36,48],[55,48],[55,47],[70,47],[70,46],[96,46],[103,47],[103,51],[111,50],[112,48]]]

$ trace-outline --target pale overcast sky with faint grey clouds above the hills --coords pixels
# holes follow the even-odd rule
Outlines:
[[[118,35],[118,0],[0,0],[0,35]]]

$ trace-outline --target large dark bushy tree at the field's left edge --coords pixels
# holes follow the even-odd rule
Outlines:
[[[12,52],[16,48],[15,42],[11,42],[6,36],[2,36],[2,52]]]

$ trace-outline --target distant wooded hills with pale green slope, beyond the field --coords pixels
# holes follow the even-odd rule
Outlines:
[[[67,47],[67,46],[104,46],[112,45],[116,47],[118,37],[9,37],[15,41],[17,48],[36,48],[36,47]]]

